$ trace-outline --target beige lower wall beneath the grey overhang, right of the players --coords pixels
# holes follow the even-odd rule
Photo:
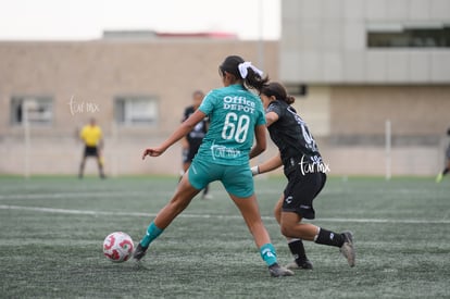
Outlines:
[[[310,86],[295,107],[332,173],[435,175],[443,167],[450,86]],[[386,152],[386,122],[391,149]]]

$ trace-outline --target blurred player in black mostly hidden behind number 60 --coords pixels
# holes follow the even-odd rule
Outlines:
[[[182,123],[189,119],[189,116],[196,112],[196,110],[200,107],[201,101],[204,98],[204,94],[201,90],[196,90],[192,92],[192,104],[185,109],[183,114]],[[204,119],[202,122],[198,123],[193,129],[186,135],[185,138],[182,140],[182,148],[183,148],[183,173],[180,174],[182,177],[184,173],[189,169],[190,164],[192,163],[192,159],[198,152],[200,145],[207,135],[208,132],[208,119]],[[209,186],[203,189],[202,194],[203,199],[211,199],[211,195],[209,194]]]

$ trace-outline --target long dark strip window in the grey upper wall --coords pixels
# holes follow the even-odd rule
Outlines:
[[[372,25],[368,48],[450,48],[450,25]]]

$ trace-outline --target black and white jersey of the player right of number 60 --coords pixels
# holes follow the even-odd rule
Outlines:
[[[268,126],[268,133],[279,149],[285,172],[300,162],[322,163],[314,137],[308,129],[307,123],[291,105],[275,100],[268,104],[267,112],[275,112],[278,115],[278,121]]]

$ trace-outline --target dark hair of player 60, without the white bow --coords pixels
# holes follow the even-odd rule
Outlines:
[[[242,78],[239,72],[239,64],[243,63],[245,60],[238,55],[229,55],[224,62],[218,66],[218,70],[222,72],[222,75],[227,72],[234,75],[237,79],[243,80],[243,86],[246,88],[253,88],[261,92],[262,88],[267,85],[268,77],[261,77],[260,74],[253,71],[253,68],[247,68],[247,76]]]

